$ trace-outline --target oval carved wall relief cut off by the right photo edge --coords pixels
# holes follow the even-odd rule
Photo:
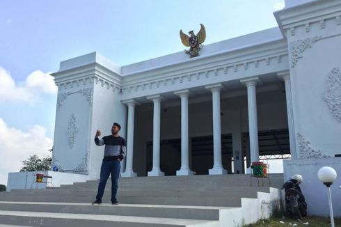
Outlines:
[[[339,68],[335,67],[331,70],[326,83],[328,88],[323,99],[333,117],[341,122],[341,73]]]

